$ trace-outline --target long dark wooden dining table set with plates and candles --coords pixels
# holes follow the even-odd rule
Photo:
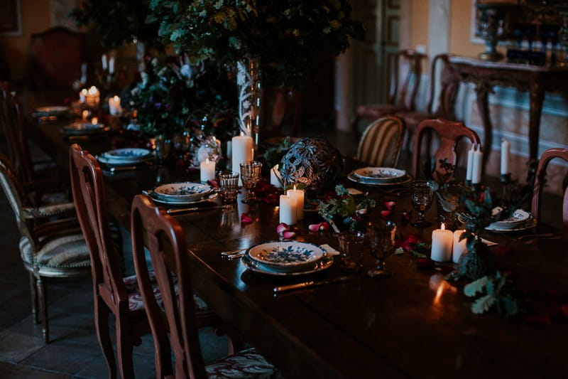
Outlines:
[[[69,140],[55,124],[38,124],[33,133],[62,167],[67,167],[67,149],[73,142],[92,154],[111,145],[111,138]],[[109,213],[129,229],[133,196],[160,183],[195,181],[198,174],[157,165],[107,172]],[[412,209],[408,195],[360,189],[378,201],[378,209],[382,201],[395,201],[391,218],[400,235],[416,233],[430,242],[431,229],[418,230],[401,221],[403,210]],[[253,222],[241,223],[241,213]],[[388,258],[391,277],[372,279],[366,270],[374,260],[366,254],[364,269],[349,281],[275,295],[273,288],[280,284],[344,273],[334,262],[329,269],[305,277],[274,277],[251,272],[241,260],[222,257],[225,250],[278,240],[278,207],[273,205],[239,201],[231,208],[204,206],[175,218],[185,231],[195,291],[287,378],[568,375],[566,316],[535,324],[525,315],[507,320],[496,312],[474,314],[464,283],[444,280],[447,267],[424,269],[406,252]],[[435,206],[426,218],[435,221]],[[306,213],[305,220],[295,225],[300,230],[297,240],[338,248],[332,231],[308,232],[309,224],[321,220],[317,213]],[[546,225],[540,228],[547,230]],[[532,299],[537,300],[533,305],[566,294],[568,255],[563,242],[537,240],[525,245],[519,235],[484,235],[498,242],[491,247],[498,267],[510,272],[518,287],[533,291]]]

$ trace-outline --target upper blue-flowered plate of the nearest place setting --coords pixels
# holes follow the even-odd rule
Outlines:
[[[246,255],[265,265],[297,267],[321,260],[325,250],[307,242],[273,241],[249,248]]]

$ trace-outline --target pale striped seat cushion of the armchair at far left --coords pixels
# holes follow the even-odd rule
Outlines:
[[[42,247],[35,252],[28,237],[20,240],[20,252],[24,262],[30,265],[53,268],[89,267],[89,249],[84,242],[82,233],[53,237],[43,242]]]

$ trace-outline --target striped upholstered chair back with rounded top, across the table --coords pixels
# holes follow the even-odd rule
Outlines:
[[[403,146],[405,129],[405,122],[399,117],[376,119],[363,132],[356,159],[369,166],[395,167]]]

